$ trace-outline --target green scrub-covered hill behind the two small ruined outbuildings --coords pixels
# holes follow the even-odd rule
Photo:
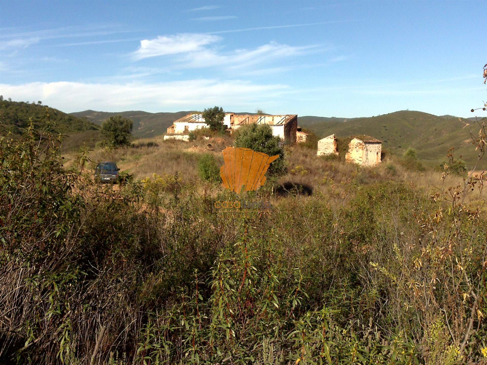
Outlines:
[[[470,119],[456,116],[437,116],[415,111],[330,121],[328,118],[300,117],[298,124],[325,137],[336,134],[346,137],[353,134],[368,134],[383,141],[383,148],[402,154],[407,148],[417,150],[418,157],[438,163],[446,159],[450,147],[455,147],[454,156],[460,157],[472,166],[476,160],[475,149],[470,144],[470,134],[478,133],[478,128]],[[320,121],[321,120],[321,121]],[[483,161],[481,168],[487,167]]]

